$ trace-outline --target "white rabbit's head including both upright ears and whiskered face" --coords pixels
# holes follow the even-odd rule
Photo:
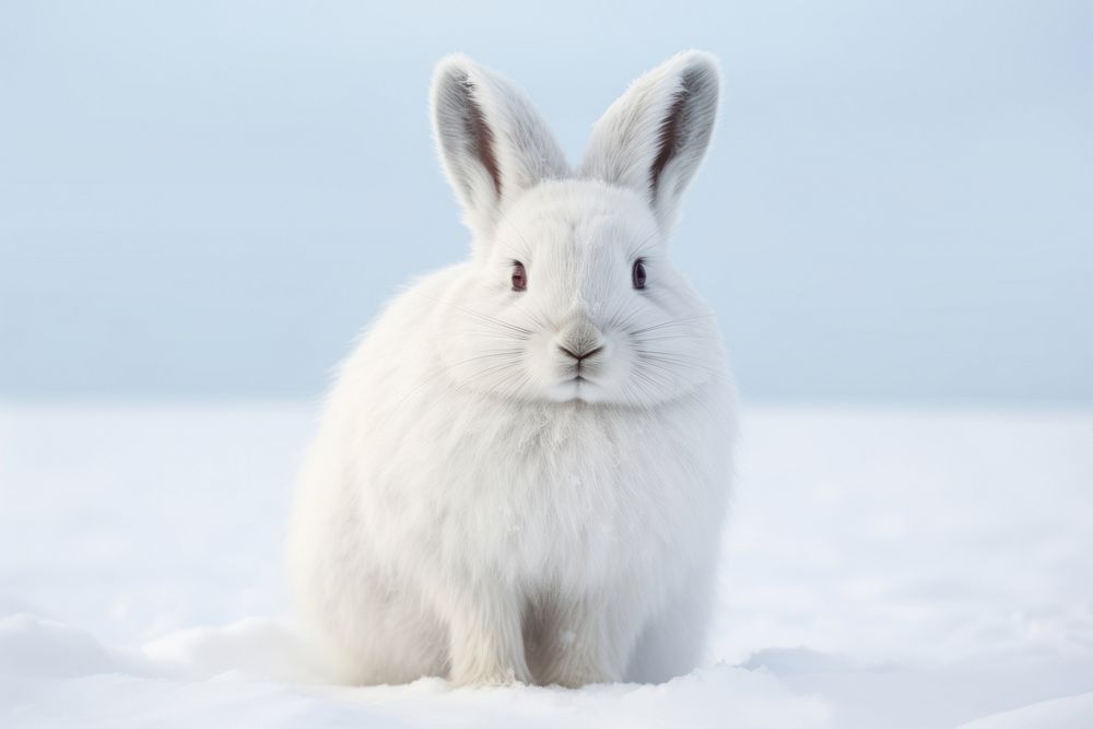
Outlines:
[[[668,256],[717,115],[713,57],[646,73],[572,169],[524,92],[462,56],[440,62],[433,122],[473,234],[438,306],[460,385],[506,399],[649,407],[722,376],[713,313]]]

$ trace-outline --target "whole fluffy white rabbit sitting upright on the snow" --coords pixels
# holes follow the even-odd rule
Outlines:
[[[571,169],[512,82],[437,67],[471,256],[343,364],[294,509],[301,616],[339,680],[579,686],[701,660],[736,408],[668,242],[718,84],[713,57],[669,59]]]

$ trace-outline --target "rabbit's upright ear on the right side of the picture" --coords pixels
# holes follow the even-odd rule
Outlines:
[[[596,122],[583,176],[637,190],[670,231],[709,145],[719,85],[717,60],[696,50],[653,69]]]

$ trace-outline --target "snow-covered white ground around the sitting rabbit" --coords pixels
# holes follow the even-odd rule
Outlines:
[[[749,409],[708,667],[581,691],[314,680],[313,419],[0,409],[0,725],[1093,727],[1093,413]]]

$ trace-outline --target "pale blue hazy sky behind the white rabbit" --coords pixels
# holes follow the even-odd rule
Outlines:
[[[763,401],[1093,403],[1088,2],[0,2],[0,399],[317,395],[465,255],[433,62],[577,158],[687,47],[722,122],[674,244]]]

